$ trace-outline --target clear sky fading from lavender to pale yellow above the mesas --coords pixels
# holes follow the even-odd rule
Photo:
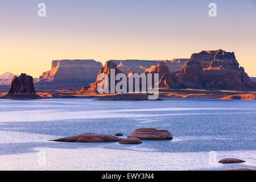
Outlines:
[[[256,0],[0,0],[0,75],[38,78],[60,59],[171,60],[216,49],[233,51],[256,77]]]

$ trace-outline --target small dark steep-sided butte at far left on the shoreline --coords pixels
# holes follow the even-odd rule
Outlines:
[[[19,77],[14,76],[8,94],[3,98],[40,98],[34,88],[32,76],[22,73]]]

